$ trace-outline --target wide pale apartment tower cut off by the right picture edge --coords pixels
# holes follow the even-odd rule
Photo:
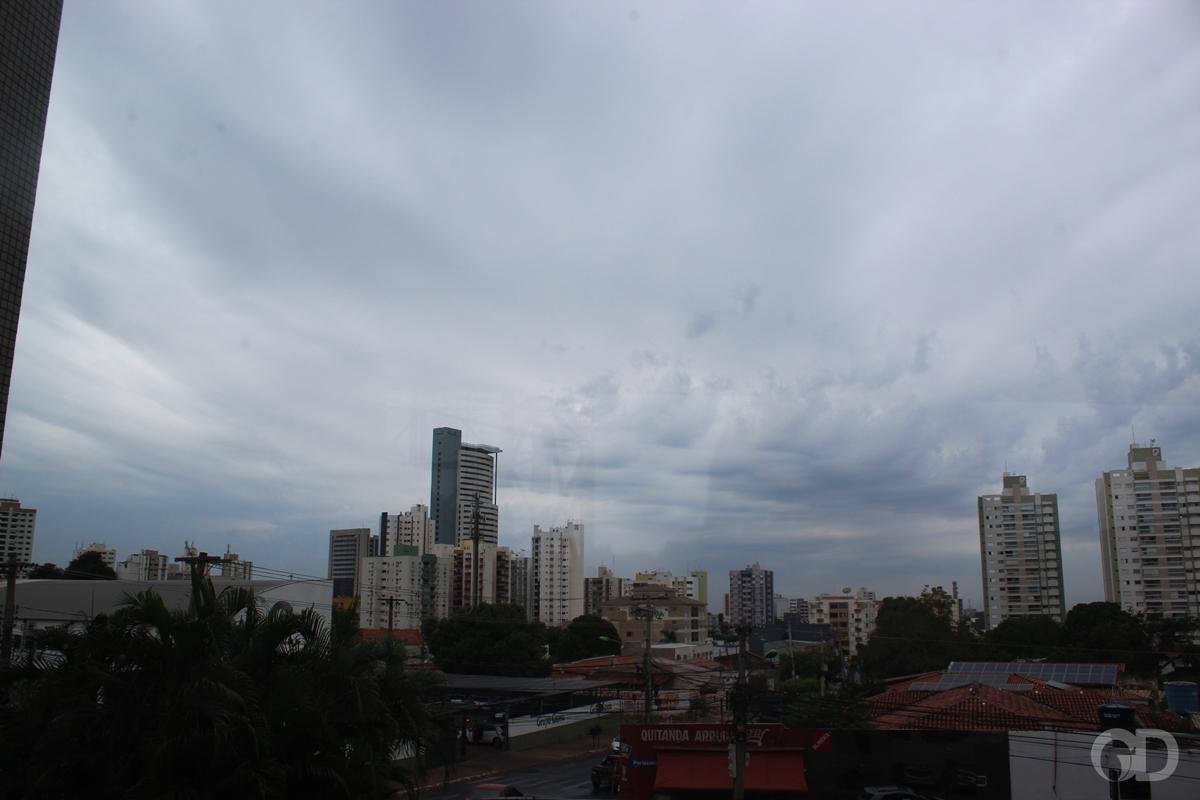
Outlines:
[[[1132,614],[1200,616],[1200,468],[1168,467],[1153,439],[1130,445],[1128,463],[1096,481],[1104,599]]]

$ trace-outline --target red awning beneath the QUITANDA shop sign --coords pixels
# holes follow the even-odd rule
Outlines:
[[[799,750],[750,750],[748,792],[808,792],[804,757]],[[660,750],[654,790],[733,789],[730,756],[720,750]]]

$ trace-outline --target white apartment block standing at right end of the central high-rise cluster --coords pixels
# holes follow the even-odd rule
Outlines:
[[[583,614],[583,523],[534,525],[529,573],[533,619],[566,625]]]

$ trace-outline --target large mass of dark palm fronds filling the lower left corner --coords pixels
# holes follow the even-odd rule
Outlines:
[[[268,612],[193,576],[192,607],[152,590],[83,633],[49,632],[2,676],[0,796],[383,798],[430,733],[427,673],[364,643],[354,609]],[[415,759],[414,759],[415,760]]]

